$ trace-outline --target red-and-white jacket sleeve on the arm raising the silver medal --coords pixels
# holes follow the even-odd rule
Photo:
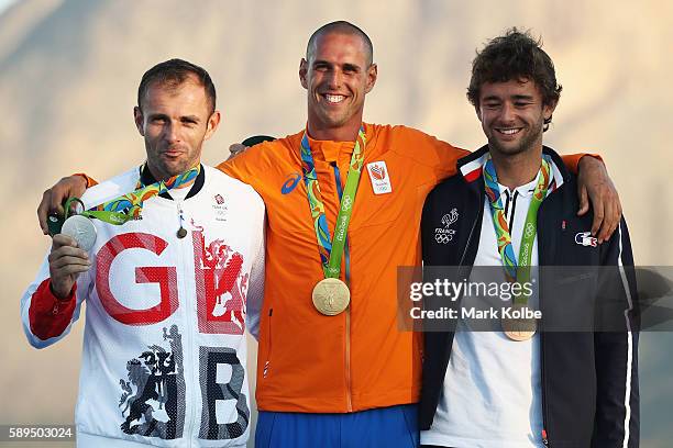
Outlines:
[[[44,257],[37,277],[21,298],[23,331],[35,348],[48,347],[70,332],[73,323],[79,318],[81,302],[90,284],[88,272],[81,273],[70,295],[58,300],[49,287],[47,256]]]

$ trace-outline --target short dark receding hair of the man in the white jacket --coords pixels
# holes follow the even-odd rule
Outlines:
[[[190,76],[195,77],[199,83],[203,86],[206,97],[208,98],[208,105],[210,107],[210,113],[213,113],[216,110],[217,94],[210,75],[198,65],[183,59],[165,60],[145,71],[137,87],[137,107],[142,109],[143,97],[147,92],[151,83],[158,82],[164,86],[178,87]]]

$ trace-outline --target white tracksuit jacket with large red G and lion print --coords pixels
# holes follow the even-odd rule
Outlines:
[[[140,221],[93,220],[92,266],[77,279],[63,333],[46,340],[33,333],[33,321],[49,317],[32,316],[31,303],[58,303],[44,288],[46,257],[21,300],[25,334],[37,348],[63,338],[87,302],[78,446],[229,447],[249,438],[244,329],[247,318],[255,333],[262,304],[264,203],[217,169],[201,172],[196,194],[154,197]],[[133,191],[139,177],[134,168],[89,189],[82,201],[90,208]]]

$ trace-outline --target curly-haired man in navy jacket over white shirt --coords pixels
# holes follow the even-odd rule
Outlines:
[[[467,97],[488,145],[461,160],[462,176],[429,194],[423,264],[464,267],[470,282],[483,280],[473,267],[500,267],[506,281],[501,253],[510,250],[520,269],[526,228],[529,266],[596,268],[565,277],[533,269],[530,304],[542,313],[541,331],[527,340],[512,340],[503,328],[470,331],[463,320],[426,333],[423,446],[639,444],[639,323],[628,231],[622,220],[609,239],[597,242],[592,216],[576,214],[575,176],[542,145],[560,91],[550,57],[528,33],[510,30],[477,54]],[[534,211],[527,216],[536,201],[537,220]],[[435,296],[426,306],[479,300]]]

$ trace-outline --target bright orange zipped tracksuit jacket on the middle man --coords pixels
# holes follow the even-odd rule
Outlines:
[[[302,132],[252,147],[218,168],[251,184],[267,212],[265,294],[257,356],[262,411],[346,413],[419,399],[422,335],[397,325],[398,266],[420,265],[428,192],[467,152],[405,126],[365,124],[365,159],[347,231],[351,305],[311,302],[323,279],[299,154]],[[330,232],[353,142],[310,141]],[[576,167],[581,156],[566,160]],[[391,192],[374,194],[367,164],[385,161]],[[379,175],[380,177],[380,175]],[[341,279],[344,277],[342,264]]]

